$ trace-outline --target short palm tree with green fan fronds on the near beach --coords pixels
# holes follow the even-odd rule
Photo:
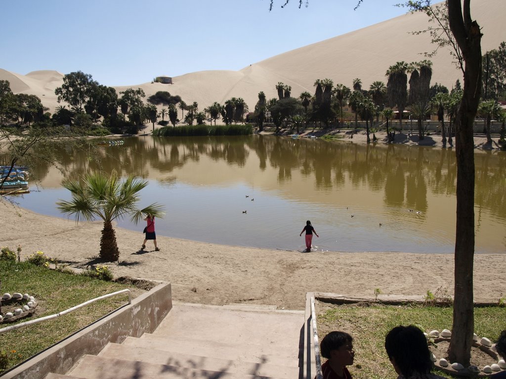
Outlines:
[[[66,179],[62,185],[72,194],[72,200],[59,200],[58,209],[68,215],[75,215],[76,222],[100,218],[104,221],[100,240],[100,257],[106,262],[114,262],[119,258],[116,235],[112,221],[131,216],[136,224],[149,213],[155,217],[164,215],[163,207],[153,203],[143,209],[137,209],[139,192],[148,185],[148,181],[129,176],[119,181],[116,171],[110,175],[101,171],[87,174],[80,180]]]

